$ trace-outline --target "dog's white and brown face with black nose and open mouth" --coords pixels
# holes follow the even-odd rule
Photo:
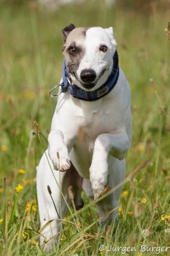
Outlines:
[[[75,28],[70,24],[62,34],[62,51],[73,83],[83,90],[96,90],[106,82],[113,66],[117,45],[113,28]]]

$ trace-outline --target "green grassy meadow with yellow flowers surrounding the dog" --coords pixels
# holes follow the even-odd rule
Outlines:
[[[137,12],[88,1],[50,13],[34,3],[1,4],[0,19],[1,255],[48,255],[39,246],[35,179],[35,166],[47,144],[41,134],[42,145],[32,134],[32,121],[39,122],[47,138],[56,104],[48,93],[60,80],[61,29],[70,22],[115,28],[121,67],[132,90],[133,140],[126,157],[127,176],[141,163],[149,163],[125,182],[118,227],[101,234],[95,204],[83,194],[85,207],[78,216],[71,210],[76,225],[68,213],[60,243],[49,255],[122,254],[99,252],[101,244],[135,246],[137,252],[131,255],[154,255],[141,253],[139,246],[169,246],[170,234],[165,230],[170,225],[170,49],[164,30],[169,10],[162,12],[153,4],[149,12]]]

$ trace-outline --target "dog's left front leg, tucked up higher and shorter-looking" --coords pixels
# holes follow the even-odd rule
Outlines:
[[[65,171],[71,167],[69,158],[71,141],[71,138],[66,138],[66,136],[64,138],[64,134],[60,130],[52,130],[48,135],[48,154],[56,170]]]

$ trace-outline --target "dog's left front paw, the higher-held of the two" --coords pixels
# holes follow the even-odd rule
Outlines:
[[[71,161],[67,150],[49,150],[55,170],[66,171],[71,167]]]

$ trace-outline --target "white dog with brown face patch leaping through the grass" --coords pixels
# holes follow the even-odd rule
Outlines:
[[[118,65],[113,28],[62,29],[64,66],[48,149],[37,166],[41,236],[47,250],[57,241],[72,189],[76,209],[81,191],[98,198],[125,178],[125,153],[132,140],[131,89]],[[60,170],[60,172],[59,172]],[[71,187],[70,187],[71,186]],[[48,189],[47,189],[48,188]],[[97,202],[99,225],[117,220],[122,186]],[[53,198],[53,202],[52,202]],[[115,211],[113,211],[115,209]],[[111,213],[110,213],[111,212]]]

